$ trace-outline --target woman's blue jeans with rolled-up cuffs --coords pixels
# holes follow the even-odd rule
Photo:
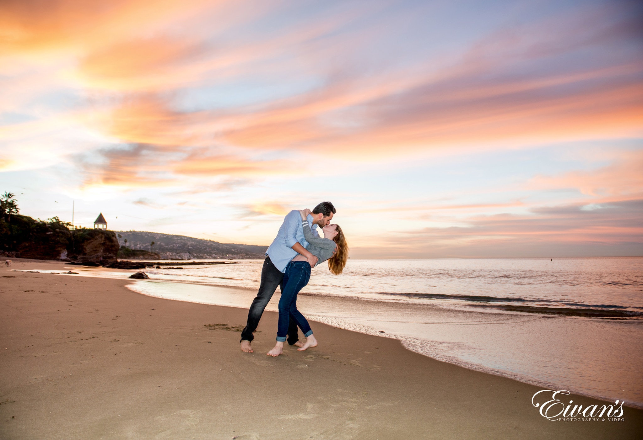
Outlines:
[[[308,261],[291,261],[285,267],[284,291],[279,300],[279,324],[277,325],[277,340],[284,342],[288,333],[288,322],[291,318],[303,331],[305,337],[312,335],[311,326],[297,310],[297,294],[311,279],[311,265]]]

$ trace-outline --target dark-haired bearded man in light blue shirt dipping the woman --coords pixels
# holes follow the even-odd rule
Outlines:
[[[317,227],[329,224],[335,212],[335,207],[331,202],[318,204],[308,215],[308,224],[311,226],[312,233],[319,236]],[[289,261],[293,260],[297,254],[302,254],[311,266],[317,263],[317,257],[306,251],[307,246],[308,242],[303,238],[302,218],[299,211],[290,211],[285,216],[284,223],[279,228],[275,240],[266,251],[266,260],[261,269],[259,292],[252,301],[248,311],[248,324],[241,333],[241,351],[253,353],[251,342],[255,337],[252,333],[257,330],[261,315],[273,297],[277,286],[280,286],[282,291],[284,290],[282,281],[284,280],[285,267]],[[303,344],[299,342],[297,333],[297,325],[294,319],[291,319],[288,326],[288,344],[301,347]]]

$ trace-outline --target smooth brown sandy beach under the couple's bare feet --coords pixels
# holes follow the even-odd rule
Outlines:
[[[247,310],[148,297],[122,279],[11,270],[63,266],[17,260],[0,271],[2,439],[634,439],[643,432],[643,411],[631,407],[622,421],[549,421],[531,403],[538,387],[433,360],[395,339],[314,322],[317,348],[287,347],[271,358],[277,316],[266,312],[255,353],[246,354],[239,330]]]

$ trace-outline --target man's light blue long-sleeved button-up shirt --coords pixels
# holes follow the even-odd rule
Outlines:
[[[311,227],[312,234],[319,236],[317,232],[317,225],[312,224],[312,215],[308,215],[308,225]],[[308,242],[303,238],[302,229],[302,216],[299,211],[290,211],[284,218],[279,228],[279,232],[273,240],[273,243],[268,247],[266,255],[270,257],[276,268],[284,272],[285,267],[297,255],[293,251],[294,243],[300,243],[303,247],[308,247]]]

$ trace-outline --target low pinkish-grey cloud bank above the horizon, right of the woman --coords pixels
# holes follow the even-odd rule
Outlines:
[[[379,258],[640,255],[642,217],[643,200],[539,207],[527,215],[475,216],[462,226],[392,232],[353,249],[358,257]]]

